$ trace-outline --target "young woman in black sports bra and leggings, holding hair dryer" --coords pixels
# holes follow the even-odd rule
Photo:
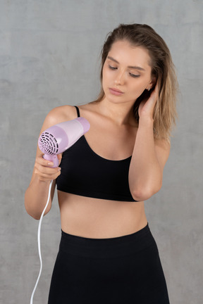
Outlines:
[[[25,208],[39,219],[57,184],[61,243],[49,304],[168,304],[144,201],[161,189],[176,119],[176,75],[164,40],[148,25],[120,25],[101,53],[101,92],[60,106],[51,125],[82,116],[90,130],[52,168],[37,148]],[[41,134],[40,133],[40,134]]]

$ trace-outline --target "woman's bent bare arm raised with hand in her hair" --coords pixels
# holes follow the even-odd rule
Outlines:
[[[158,84],[147,101],[139,107],[139,127],[129,168],[130,192],[135,201],[145,201],[161,189],[164,166],[170,144],[154,139],[153,110],[158,97]]]

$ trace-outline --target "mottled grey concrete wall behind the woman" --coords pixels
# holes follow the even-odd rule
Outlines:
[[[171,49],[180,84],[171,156],[161,191],[145,204],[147,218],[171,304],[202,304],[202,20],[202,0],[0,1],[1,303],[30,303],[39,272],[38,222],[23,196],[45,116],[95,99],[106,34],[119,23],[147,23]],[[47,303],[60,229],[55,198],[42,222],[36,304]]]

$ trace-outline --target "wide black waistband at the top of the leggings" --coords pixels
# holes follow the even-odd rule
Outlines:
[[[106,239],[93,239],[61,232],[60,251],[71,255],[92,258],[115,258],[144,251],[156,242],[149,225],[133,234]]]

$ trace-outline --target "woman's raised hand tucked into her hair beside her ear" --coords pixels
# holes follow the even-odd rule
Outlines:
[[[159,96],[159,84],[156,82],[156,86],[149,99],[144,99],[139,106],[138,114],[140,119],[147,118],[153,120],[154,106]]]

